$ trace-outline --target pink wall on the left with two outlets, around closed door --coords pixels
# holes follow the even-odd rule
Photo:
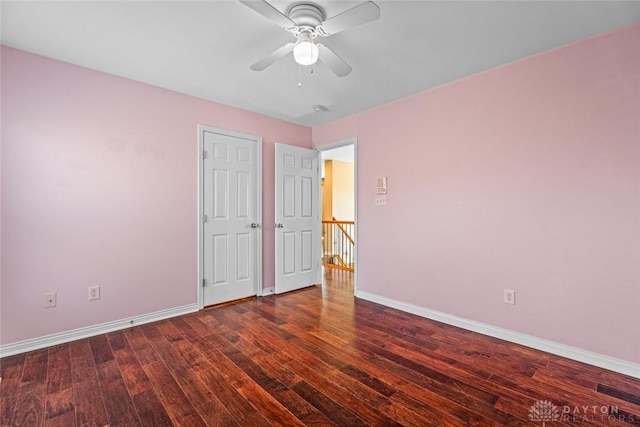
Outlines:
[[[198,124],[262,136],[272,224],[273,144],[309,128],[2,47],[2,344],[196,302]]]

